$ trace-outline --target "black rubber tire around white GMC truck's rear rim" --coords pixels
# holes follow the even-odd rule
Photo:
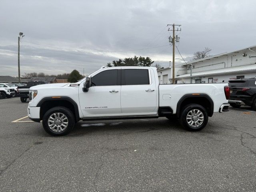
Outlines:
[[[193,118],[191,119],[192,125],[190,125],[187,122],[187,115],[191,114],[190,111],[192,111],[192,110],[200,110],[200,112],[202,112],[202,114],[200,115],[200,119],[202,119],[202,117],[203,117],[202,123],[201,123],[201,121],[199,123],[194,122],[194,120],[199,119],[198,117],[195,117],[194,119]],[[206,109],[203,106],[198,105],[198,104],[189,104],[189,105],[184,106],[184,108],[182,109],[182,112],[180,114],[180,124],[186,130],[188,130],[188,131],[200,131],[206,126],[207,122],[208,122],[208,114],[206,112]]]

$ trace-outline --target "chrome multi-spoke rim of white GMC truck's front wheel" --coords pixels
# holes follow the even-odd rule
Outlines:
[[[63,113],[51,114],[48,118],[48,126],[54,132],[62,132],[68,127],[68,118]]]

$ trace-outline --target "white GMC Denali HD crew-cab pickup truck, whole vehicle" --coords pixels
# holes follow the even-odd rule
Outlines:
[[[202,130],[214,112],[228,111],[228,84],[159,84],[154,67],[102,68],[77,83],[29,90],[28,117],[51,135],[68,134],[79,120],[177,118]]]

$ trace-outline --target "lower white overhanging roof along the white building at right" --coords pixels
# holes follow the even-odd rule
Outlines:
[[[195,72],[192,71],[192,76],[189,73],[176,76],[176,79],[186,78],[186,77],[199,77],[199,76],[210,76],[210,75],[222,75],[225,74],[233,74],[233,73],[243,73],[243,72],[256,72],[256,64],[249,64],[249,65],[242,65],[236,67],[228,67],[228,68],[221,68],[209,71],[201,71]]]

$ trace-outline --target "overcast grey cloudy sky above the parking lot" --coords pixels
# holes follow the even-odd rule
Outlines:
[[[1,0],[0,75],[18,76],[19,32],[21,74],[89,74],[134,55],[167,67],[167,24],[182,25],[178,49],[190,60],[204,47],[220,54],[255,45],[255,8],[255,0]]]

